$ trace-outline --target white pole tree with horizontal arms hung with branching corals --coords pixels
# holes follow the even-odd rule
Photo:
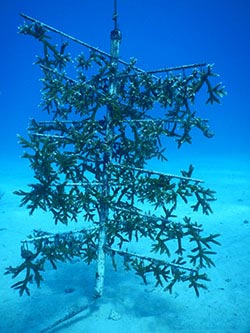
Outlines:
[[[214,265],[212,246],[219,243],[217,234],[205,234],[193,221],[192,212],[210,214],[215,192],[193,178],[192,165],[175,175],[151,170],[147,163],[167,163],[167,139],[178,148],[191,144],[194,128],[212,137],[194,105],[200,93],[207,94],[207,104],[219,103],[225,94],[220,83],[211,82],[213,66],[144,71],[134,59],[123,61],[116,10],[110,53],[22,16],[26,22],[19,32],[42,45],[36,63],[48,116],[32,119],[28,138],[20,137],[35,180],[28,191],[15,193],[30,214],[42,209],[55,224],[79,227],[56,234],[35,230],[22,241],[23,262],[6,271],[22,276],[12,287],[30,294],[29,284],[40,286],[46,262],[56,268],[80,258],[96,261],[95,296],[100,297],[109,257],[115,269],[124,265],[145,284],[153,281],[172,292],[176,283],[187,283],[198,296],[209,280],[205,269]],[[57,35],[61,45],[53,42]],[[84,52],[71,56],[70,41]],[[183,204],[190,214],[179,216]]]

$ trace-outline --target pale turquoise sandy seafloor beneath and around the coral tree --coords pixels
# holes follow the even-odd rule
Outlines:
[[[7,157],[7,156],[6,156]],[[18,157],[4,158],[0,168],[0,332],[36,333],[49,327],[78,307],[86,310],[50,332],[84,333],[249,333],[250,332],[250,156],[196,156],[195,176],[217,192],[213,215],[199,216],[207,233],[220,233],[216,267],[207,271],[211,282],[197,298],[187,286],[178,285],[173,294],[141,283],[133,272],[106,268],[105,292],[90,305],[94,291],[95,265],[49,266],[41,288],[34,285],[31,296],[20,297],[10,288],[13,281],[3,275],[5,267],[21,262],[20,241],[36,228],[54,227],[43,212],[29,216],[13,195],[31,182],[30,171]],[[172,170],[171,170],[172,171]],[[195,218],[195,216],[194,216]],[[51,227],[52,225],[52,227]],[[74,225],[73,228],[76,228]],[[72,292],[66,292],[72,288]]]

